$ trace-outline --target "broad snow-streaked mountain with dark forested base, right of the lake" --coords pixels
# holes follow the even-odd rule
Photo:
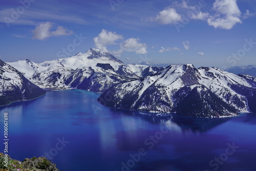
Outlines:
[[[153,76],[115,84],[98,101],[117,109],[195,117],[234,116],[256,113],[255,80],[218,68],[171,65]]]

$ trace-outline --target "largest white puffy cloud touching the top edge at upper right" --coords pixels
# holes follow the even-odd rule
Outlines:
[[[210,15],[207,19],[209,26],[231,29],[237,23],[242,23],[241,11],[236,0],[216,0],[212,9],[216,11],[216,14]]]

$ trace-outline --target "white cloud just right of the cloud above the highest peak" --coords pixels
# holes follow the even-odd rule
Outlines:
[[[137,54],[146,54],[146,44],[142,44],[139,41],[139,38],[129,38],[122,42],[121,49],[128,52],[136,52]]]

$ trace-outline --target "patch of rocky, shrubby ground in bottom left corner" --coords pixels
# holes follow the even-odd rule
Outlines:
[[[24,161],[13,160],[0,153],[0,171],[59,171],[56,164],[46,157],[26,158]]]

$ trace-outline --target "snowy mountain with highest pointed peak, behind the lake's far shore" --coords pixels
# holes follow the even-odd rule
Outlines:
[[[10,62],[9,65],[22,72],[31,82],[46,90],[72,89],[103,92],[115,83],[131,81],[153,75],[160,67],[125,65],[109,53],[90,49],[68,58],[42,63],[30,60]]]

